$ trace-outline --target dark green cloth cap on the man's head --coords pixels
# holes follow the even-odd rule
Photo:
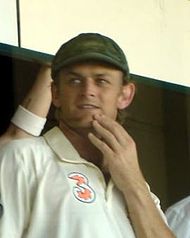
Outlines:
[[[54,79],[63,67],[86,60],[109,63],[129,76],[122,49],[111,38],[98,33],[82,33],[64,43],[53,59],[51,76]]]

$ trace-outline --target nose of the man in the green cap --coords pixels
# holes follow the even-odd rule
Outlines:
[[[97,87],[92,79],[85,80],[81,87],[81,95],[86,97],[95,97]]]

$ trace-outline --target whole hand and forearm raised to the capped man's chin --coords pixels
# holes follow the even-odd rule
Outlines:
[[[174,238],[154,203],[138,163],[133,138],[116,122],[94,116],[89,139],[103,154],[103,162],[117,188],[123,193],[137,238]],[[101,139],[99,139],[101,138]]]

